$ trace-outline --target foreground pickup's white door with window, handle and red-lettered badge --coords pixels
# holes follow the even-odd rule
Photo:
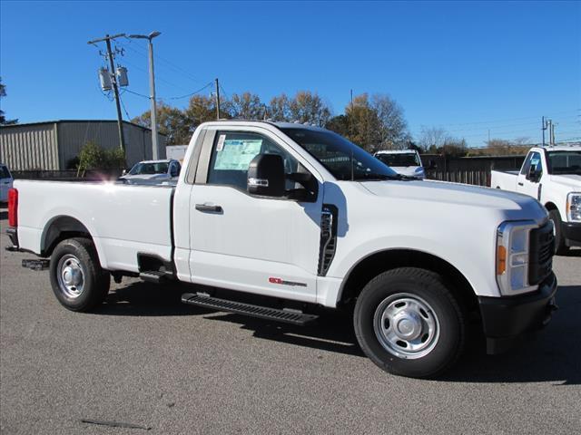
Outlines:
[[[315,302],[322,189],[315,202],[251,196],[259,153],[280,154],[286,173],[305,170],[266,129],[206,132],[190,200],[191,280]]]

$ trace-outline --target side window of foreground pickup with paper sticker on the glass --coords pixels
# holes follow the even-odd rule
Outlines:
[[[208,184],[232,186],[246,191],[248,167],[258,154],[279,154],[287,174],[297,171],[299,162],[261,134],[218,131],[212,148]],[[294,184],[288,180],[286,189],[293,189]]]

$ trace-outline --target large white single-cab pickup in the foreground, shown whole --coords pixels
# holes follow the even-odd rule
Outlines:
[[[8,248],[44,258],[23,266],[49,268],[70,310],[94,309],[123,275],[191,283],[184,303],[272,321],[351,308],[362,350],[405,376],[447,370],[468,319],[497,353],[556,308],[537,200],[399,176],[298,124],[202,124],[175,187],[16,180],[9,224]]]

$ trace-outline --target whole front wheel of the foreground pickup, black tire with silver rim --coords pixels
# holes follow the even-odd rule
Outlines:
[[[389,318],[390,310],[400,311]],[[464,348],[465,319],[441,276],[416,267],[400,267],[376,276],[363,288],[353,314],[359,345],[369,359],[386,372],[413,378],[435,377],[458,360]],[[419,329],[412,327],[419,336],[401,340],[397,335],[401,330],[396,333],[392,323],[404,332],[410,324],[420,324]],[[389,334],[395,339],[387,338]],[[412,350],[413,346],[419,350]]]

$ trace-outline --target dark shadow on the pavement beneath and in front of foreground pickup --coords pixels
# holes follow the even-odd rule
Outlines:
[[[350,314],[321,310],[320,318],[314,324],[279,324],[182,304],[181,295],[187,291],[192,291],[192,286],[164,285],[161,288],[159,285],[135,282],[113,290],[95,314],[201,315],[208,321],[240,325],[257,339],[323,352],[365,356],[357,343]],[[437,382],[581,384],[581,285],[559,286],[557,304],[560,309],[547,329],[508,353],[489,356],[484,351],[481,334],[469,334],[467,352]]]

